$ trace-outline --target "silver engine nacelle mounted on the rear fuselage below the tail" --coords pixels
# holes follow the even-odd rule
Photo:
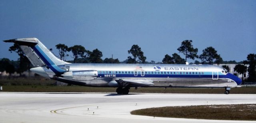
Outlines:
[[[66,79],[72,79],[72,80],[92,80],[97,78],[98,71],[96,70],[68,71],[62,74],[62,76]]]

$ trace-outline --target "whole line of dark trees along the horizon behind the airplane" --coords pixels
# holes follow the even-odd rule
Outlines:
[[[130,56],[124,62],[120,62],[118,59],[113,58],[105,58],[102,60],[102,52],[98,49],[89,51],[86,50],[81,45],[74,45],[71,47],[66,46],[65,44],[57,44],[56,49],[58,50],[58,55],[56,55],[61,60],[66,61],[66,57],[68,57],[68,52],[72,52],[71,58],[73,60],[66,61],[70,63],[156,63],[154,61],[146,62],[146,56],[144,56],[144,52],[142,52],[141,48],[138,45],[133,45],[130,50],[128,50],[128,54]],[[243,63],[249,64],[247,68],[244,65],[237,65],[234,69],[238,72],[238,74],[244,74],[246,71],[249,73],[248,80],[256,81],[256,54],[249,54],[247,60],[243,62],[236,61],[223,61],[220,54],[217,53],[215,48],[207,47],[202,50],[202,54],[198,55],[198,48],[194,48],[192,45],[192,40],[184,40],[181,42],[180,47],[177,48],[178,52],[184,55],[182,58],[177,53],[172,54],[171,56],[166,54],[162,60],[162,62],[158,63],[166,63],[166,64],[185,64],[187,59],[194,60],[195,58],[199,58],[201,62],[195,60],[195,64],[212,64],[212,63]],[[7,58],[0,59],[0,71],[6,70],[8,73],[22,73],[23,71],[28,70],[32,65],[29,60],[26,58],[25,54],[19,48],[17,44],[14,44],[9,48],[9,51],[15,52],[18,54],[20,58],[17,61],[10,61]],[[52,51],[52,49],[50,49]],[[229,70],[228,66],[226,67]],[[8,68],[8,69],[7,69]]]

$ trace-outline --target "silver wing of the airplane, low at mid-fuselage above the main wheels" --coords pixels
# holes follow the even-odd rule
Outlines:
[[[154,85],[152,80],[149,79],[114,79],[120,83],[130,83],[133,85]]]

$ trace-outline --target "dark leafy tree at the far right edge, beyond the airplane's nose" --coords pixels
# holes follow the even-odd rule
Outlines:
[[[244,64],[249,64],[247,78],[248,81],[256,81],[256,54],[249,54],[247,60],[243,61]]]

